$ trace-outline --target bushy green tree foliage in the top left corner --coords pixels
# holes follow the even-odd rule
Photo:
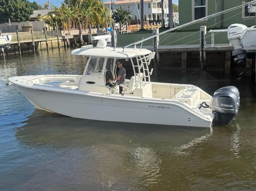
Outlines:
[[[0,23],[23,22],[33,13],[31,3],[27,0],[0,0]]]

